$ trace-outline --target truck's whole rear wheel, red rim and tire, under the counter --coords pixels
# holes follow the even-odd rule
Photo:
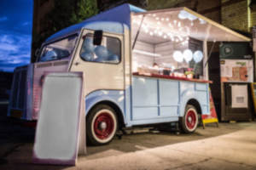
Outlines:
[[[186,105],[184,116],[180,119],[180,127],[184,133],[193,133],[198,125],[198,114],[193,105]]]

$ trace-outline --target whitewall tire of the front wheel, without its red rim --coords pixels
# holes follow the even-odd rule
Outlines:
[[[113,129],[113,133],[111,135],[111,138],[106,140],[106,141],[103,141],[102,139],[97,139],[96,138],[96,135],[94,133],[94,129],[93,129],[93,125],[92,123],[94,122],[94,118],[96,117],[96,114],[99,113],[100,111],[103,111],[103,110],[108,110],[109,112],[113,113],[113,122],[114,122],[114,129]],[[87,142],[88,144],[92,144],[92,145],[104,145],[104,144],[109,144],[115,134],[116,134],[116,131],[118,129],[118,126],[119,123],[118,123],[118,119],[117,119],[117,116],[116,116],[116,113],[115,111],[108,105],[96,105],[89,113],[89,115],[87,116],[86,118],[86,137],[87,137]]]

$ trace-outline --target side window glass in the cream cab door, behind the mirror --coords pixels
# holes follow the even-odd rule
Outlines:
[[[118,64],[121,57],[121,42],[116,37],[102,38],[102,45],[93,45],[93,34],[87,34],[80,51],[81,59],[99,63]]]

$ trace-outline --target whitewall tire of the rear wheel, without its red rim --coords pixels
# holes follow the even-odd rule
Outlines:
[[[189,127],[187,127],[186,125],[186,116],[189,113],[189,110],[194,110],[195,111],[195,117],[196,117],[196,122],[195,122],[195,127],[193,129],[189,129]],[[186,105],[185,107],[185,111],[184,111],[184,116],[180,118],[179,120],[179,125],[181,128],[181,131],[183,133],[194,133],[197,126],[198,126],[198,112],[195,109],[194,105]]]

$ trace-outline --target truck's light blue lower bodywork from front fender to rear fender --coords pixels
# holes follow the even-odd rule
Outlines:
[[[202,114],[209,114],[208,84],[151,77],[132,77],[132,86],[122,90],[98,90],[85,98],[86,114],[101,101],[117,105],[126,127],[177,122],[189,99],[195,99]]]

